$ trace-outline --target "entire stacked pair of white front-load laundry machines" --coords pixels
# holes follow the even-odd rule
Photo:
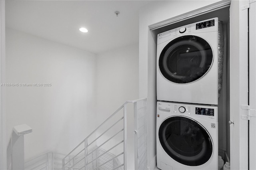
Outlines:
[[[161,170],[218,169],[218,18],[157,36],[156,157]]]

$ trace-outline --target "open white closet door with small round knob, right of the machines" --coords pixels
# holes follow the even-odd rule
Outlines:
[[[230,168],[248,169],[248,1],[230,4]],[[243,118],[243,119],[242,119]]]

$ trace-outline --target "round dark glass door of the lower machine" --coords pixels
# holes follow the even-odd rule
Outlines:
[[[161,124],[158,133],[165,152],[181,164],[199,166],[212,156],[213,144],[210,135],[193,119],[170,117]]]

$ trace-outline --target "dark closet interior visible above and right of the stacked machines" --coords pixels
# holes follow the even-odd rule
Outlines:
[[[219,21],[222,21],[223,33],[224,33],[224,59],[223,59],[223,75],[222,75],[222,89],[220,91],[220,97],[218,99],[218,137],[219,137],[219,155],[222,156],[225,161],[230,161],[230,141],[229,141],[229,125],[228,120],[230,117],[229,110],[229,5],[225,5],[219,8],[212,9],[210,11],[191,16],[188,19],[180,22],[174,22],[174,24],[163,26],[160,28],[153,28],[152,34],[155,36],[180,26],[207,20],[210,18],[218,17]],[[215,58],[217,59],[217,58]]]

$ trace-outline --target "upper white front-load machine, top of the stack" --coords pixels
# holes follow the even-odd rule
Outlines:
[[[158,101],[218,105],[218,18],[157,35]]]

